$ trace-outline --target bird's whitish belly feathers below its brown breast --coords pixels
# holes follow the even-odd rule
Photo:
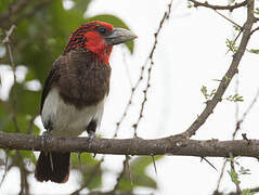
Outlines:
[[[104,100],[96,105],[76,108],[65,103],[56,88],[53,88],[46,98],[41,112],[41,119],[47,128],[51,126],[51,135],[54,136],[78,136],[91,120],[100,125],[103,115]]]

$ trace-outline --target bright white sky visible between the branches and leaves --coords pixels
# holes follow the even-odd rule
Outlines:
[[[228,1],[209,1],[216,3],[228,3]],[[128,24],[131,30],[138,35],[135,40],[134,54],[130,55],[125,46],[115,47],[111,56],[113,68],[111,93],[106,102],[102,127],[98,133],[103,138],[112,138],[115,125],[120,118],[130,95],[131,86],[135,83],[140,76],[141,66],[145,63],[153,47],[154,32],[157,30],[159,22],[167,10],[169,1],[161,0],[95,0],[90,4],[86,16],[96,14],[114,14]],[[257,1],[258,3],[258,1]],[[69,1],[67,1],[69,6]],[[221,12],[232,18],[241,26],[245,21],[245,9],[238,9],[232,14]],[[154,54],[154,67],[152,69],[151,89],[147,93],[147,102],[144,109],[144,118],[141,120],[138,135],[143,139],[156,139],[185,131],[196,119],[205,107],[205,99],[200,88],[206,86],[208,90],[216,89],[219,84],[213,79],[221,79],[230,66],[232,54],[226,53],[225,40],[233,39],[236,32],[233,25],[218,15],[212,10],[199,8],[187,9],[187,3],[174,0],[170,20],[166,21],[158,37],[157,49]],[[248,44],[248,49],[259,49],[259,36],[255,34]],[[238,93],[244,98],[244,102],[238,104],[238,117],[246,110],[259,89],[259,57],[256,54],[245,53],[238,73]],[[22,68],[22,67],[21,67]],[[1,76],[9,77],[7,69],[0,69]],[[21,77],[25,70],[21,72]],[[145,75],[146,76],[146,75]],[[145,77],[146,78],[146,77]],[[224,98],[235,94],[236,78],[232,80]],[[11,78],[5,79],[11,83]],[[21,78],[23,79],[23,78]],[[4,84],[3,84],[4,86]],[[140,102],[143,98],[144,84],[138,90],[129,109],[128,118],[119,130],[118,138],[132,138],[132,123],[138,119]],[[4,96],[4,92],[0,91]],[[3,96],[1,96],[3,99]],[[235,129],[236,104],[222,101],[216,107],[213,114],[200,127],[193,139],[197,140],[231,140]],[[259,104],[255,104],[251,112],[244,121],[237,139],[242,139],[242,133],[247,133],[248,138],[259,136]],[[36,121],[40,126],[40,118]],[[98,155],[100,158],[102,155]],[[102,166],[113,170],[104,174],[103,191],[111,190],[116,182],[116,173],[121,168],[124,156],[106,155]],[[156,162],[157,172],[154,168],[148,168],[148,174],[157,180],[158,190],[138,188],[137,193],[155,194],[211,194],[220,174],[223,158],[208,158],[218,169],[216,171],[207,162],[197,157],[166,156]],[[251,174],[241,177],[241,187],[258,186],[259,164],[254,158],[241,158],[239,164],[251,170]],[[230,167],[226,166],[226,170]],[[0,190],[0,194],[12,194],[18,192],[18,185],[10,190],[10,182],[16,178],[15,169],[12,169],[7,177],[7,181]],[[70,174],[66,184],[44,184],[33,182],[31,193],[46,192],[69,193],[76,186],[76,172]],[[10,181],[10,182],[8,182]],[[73,187],[72,187],[73,186]],[[231,182],[225,172],[221,182],[220,191],[231,192],[235,185]]]

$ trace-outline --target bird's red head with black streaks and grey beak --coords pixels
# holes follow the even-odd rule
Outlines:
[[[134,39],[131,31],[114,28],[108,23],[90,22],[78,27],[69,38],[65,53],[72,49],[85,49],[95,53],[105,64],[108,64],[113,46]]]

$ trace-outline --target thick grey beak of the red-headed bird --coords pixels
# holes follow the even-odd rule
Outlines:
[[[107,44],[119,44],[135,39],[137,36],[124,28],[114,28],[112,34],[105,37]]]

